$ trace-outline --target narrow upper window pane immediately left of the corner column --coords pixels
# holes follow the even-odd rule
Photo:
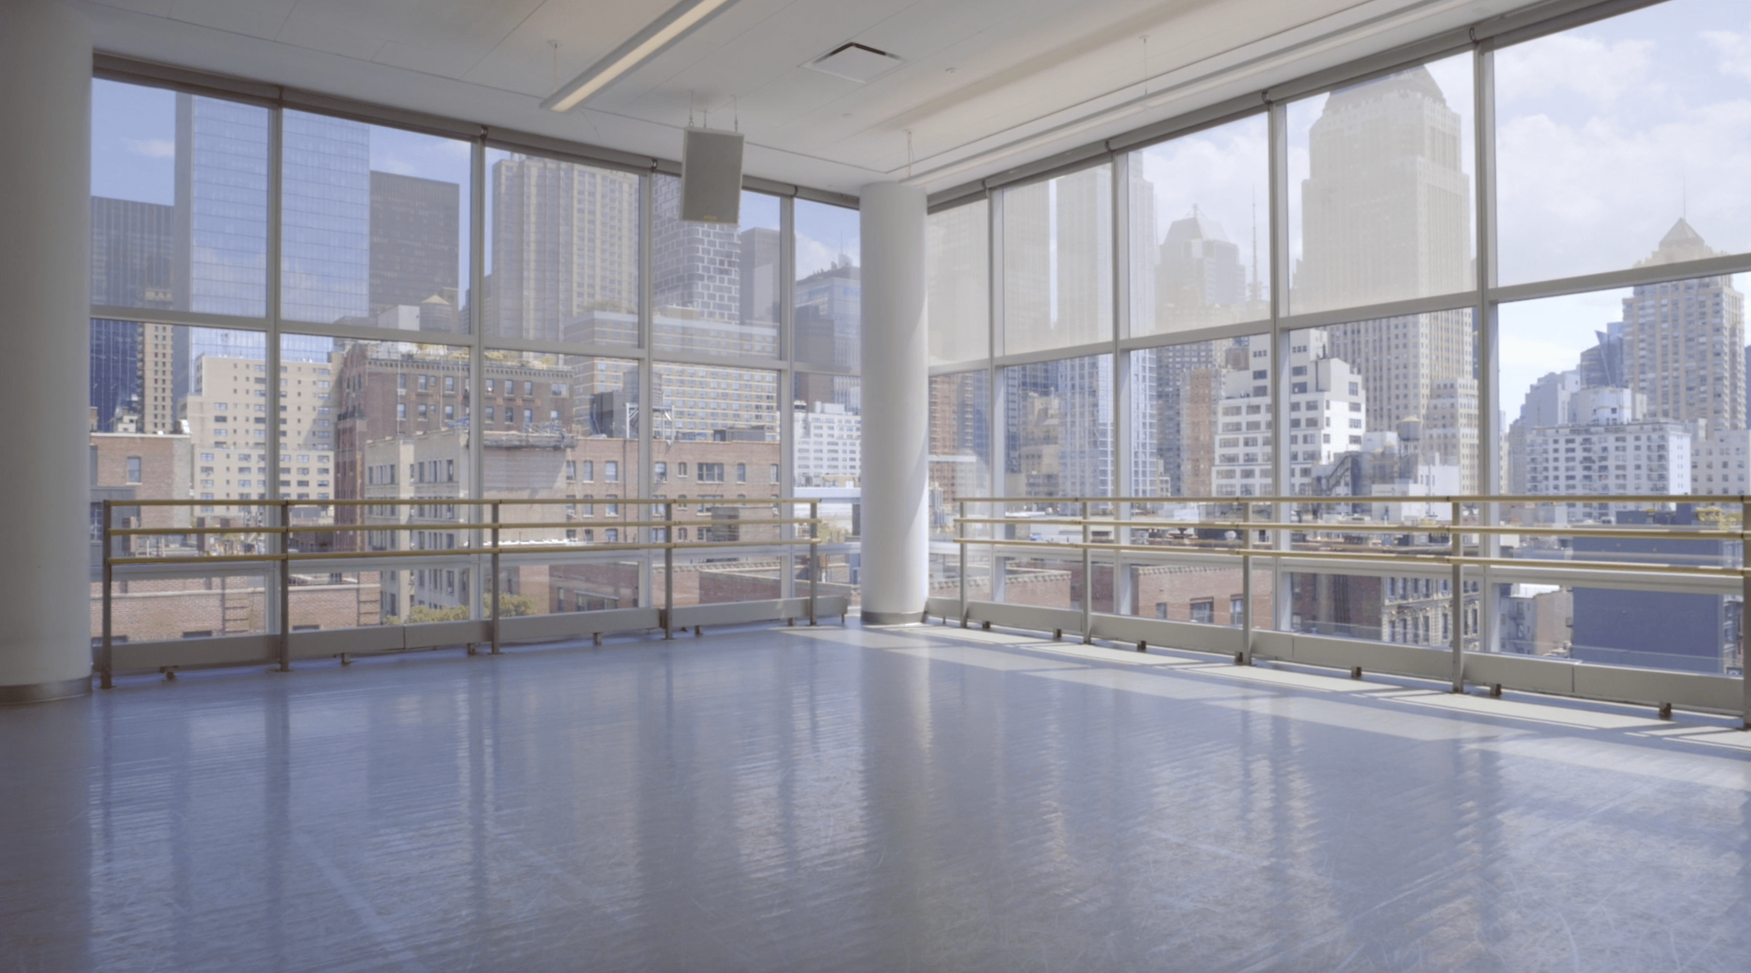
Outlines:
[[[861,341],[858,212],[797,200],[797,360],[856,371]]]

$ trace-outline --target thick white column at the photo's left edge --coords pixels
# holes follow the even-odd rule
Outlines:
[[[91,691],[91,33],[0,2],[0,702]]]

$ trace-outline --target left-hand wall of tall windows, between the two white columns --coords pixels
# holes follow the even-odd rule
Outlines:
[[[678,604],[798,592],[797,550],[746,544],[786,539],[760,522],[811,488],[844,513],[823,578],[854,592],[858,214],[748,192],[741,226],[690,224],[678,189],[96,80],[93,500],[116,502],[117,527],[224,528],[130,553],[270,551],[261,528],[287,500],[298,553],[406,555],[294,574],[299,630],[489,614],[469,553],[487,514],[457,502],[478,499],[525,525],[501,537],[508,616],[660,604],[637,548],[667,541],[744,544],[678,551]],[[268,632],[277,611],[256,567],[193,565],[117,598],[130,584],[124,640]]]

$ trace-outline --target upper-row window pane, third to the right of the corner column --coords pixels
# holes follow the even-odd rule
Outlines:
[[[1129,164],[1131,334],[1269,317],[1266,117],[1150,145]]]

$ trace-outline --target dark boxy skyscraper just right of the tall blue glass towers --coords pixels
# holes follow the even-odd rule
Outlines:
[[[462,187],[436,178],[371,173],[371,313],[457,304]]]

